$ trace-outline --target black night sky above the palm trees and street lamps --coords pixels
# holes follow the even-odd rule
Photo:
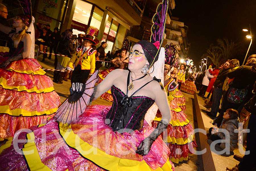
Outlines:
[[[211,43],[218,38],[232,39],[242,43],[242,54],[237,56],[243,62],[250,40],[243,28],[256,35],[256,0],[176,0],[172,16],[188,26],[188,42],[191,43],[189,58],[197,65]],[[256,42],[256,36],[253,43]],[[248,55],[256,53],[251,46]]]

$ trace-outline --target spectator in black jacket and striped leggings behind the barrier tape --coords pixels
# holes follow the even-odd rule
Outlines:
[[[67,29],[62,33],[61,41],[58,46],[58,53],[65,56],[57,56],[57,64],[55,65],[55,70],[53,73],[53,82],[62,84],[62,79],[64,72],[66,70],[67,64],[69,63],[70,58],[75,53],[76,43],[75,39],[72,40],[72,30]]]

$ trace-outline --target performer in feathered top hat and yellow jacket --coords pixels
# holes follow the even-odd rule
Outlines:
[[[91,45],[96,45],[93,40],[95,32],[95,28],[88,28],[86,36],[82,37],[83,45],[77,47],[77,52],[67,65],[68,72],[74,70],[71,76],[71,83],[80,82],[85,84],[88,76],[91,76],[95,71],[95,55],[97,51],[90,47]]]

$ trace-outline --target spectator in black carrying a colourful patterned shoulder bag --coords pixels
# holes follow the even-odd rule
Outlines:
[[[215,124],[220,125],[221,117],[226,109],[238,109],[246,99],[252,97],[253,84],[256,80],[256,59],[252,58],[245,65],[228,73],[228,78],[234,80],[230,83],[227,93],[223,96],[223,105]],[[248,101],[247,100],[247,101]]]

